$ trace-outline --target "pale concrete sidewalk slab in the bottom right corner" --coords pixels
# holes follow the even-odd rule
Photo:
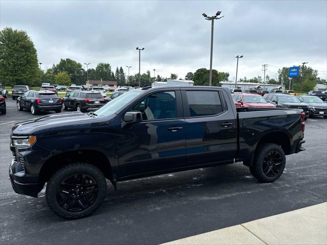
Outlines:
[[[327,244],[327,203],[165,244]]]

